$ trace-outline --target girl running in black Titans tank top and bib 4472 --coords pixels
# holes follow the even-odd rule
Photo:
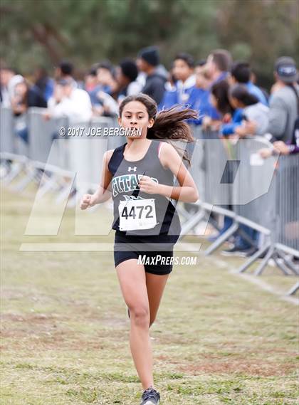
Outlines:
[[[157,114],[156,102],[144,94],[122,100],[119,124],[129,129],[127,143],[105,152],[100,186],[80,202],[80,208],[86,209],[112,194],[115,269],[130,317],[130,349],[144,389],[140,405],[157,405],[160,400],[152,374],[150,326],[172,271],[173,247],[181,232],[170,199],[195,202],[199,198],[182,163],[182,157],[190,163],[186,152],[179,154],[172,144],[160,140],[191,142],[194,138],[184,120],[196,116],[196,111],[181,107]],[[174,186],[174,177],[179,186]]]

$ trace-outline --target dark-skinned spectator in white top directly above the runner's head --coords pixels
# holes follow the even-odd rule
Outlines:
[[[136,81],[138,76],[138,69],[135,61],[130,58],[125,58],[120,61],[117,68],[116,80],[118,84],[118,102],[121,102],[127,95],[135,95],[140,93],[142,87]]]

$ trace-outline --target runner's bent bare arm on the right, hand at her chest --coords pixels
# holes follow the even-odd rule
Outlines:
[[[199,191],[192,179],[191,174],[182,162],[182,158],[171,144],[163,144],[160,153],[160,161],[164,167],[168,167],[179,181],[179,186],[167,186],[159,184],[159,194],[171,199],[196,202],[199,199]]]

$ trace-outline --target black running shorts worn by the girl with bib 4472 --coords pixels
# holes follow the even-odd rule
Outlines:
[[[140,257],[147,273],[169,274],[172,271],[174,243],[178,238],[176,235],[137,236],[115,231],[115,267],[123,261]]]

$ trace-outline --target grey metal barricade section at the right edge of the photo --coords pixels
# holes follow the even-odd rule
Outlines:
[[[238,157],[243,164],[234,187],[234,201],[238,201],[234,204],[236,221],[270,236],[241,265],[239,272],[248,269],[265,253],[255,275],[261,275],[271,258],[285,275],[297,274],[292,261],[287,263],[285,253],[299,256],[299,231],[296,227],[299,222],[299,159],[296,156],[261,159],[257,152],[265,146],[271,147],[263,138],[243,140],[237,145]]]

